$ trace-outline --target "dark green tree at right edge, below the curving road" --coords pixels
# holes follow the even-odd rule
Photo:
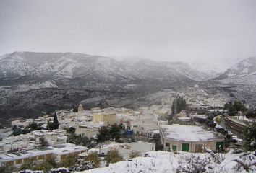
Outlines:
[[[255,151],[256,150],[256,122],[247,124],[247,128],[244,129],[244,148],[247,151]]]

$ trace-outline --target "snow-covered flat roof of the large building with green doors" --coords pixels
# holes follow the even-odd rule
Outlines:
[[[164,138],[174,141],[213,141],[218,138],[213,132],[195,125],[161,125]]]

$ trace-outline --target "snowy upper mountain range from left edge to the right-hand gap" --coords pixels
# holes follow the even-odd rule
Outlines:
[[[187,63],[150,60],[124,63],[104,56],[83,53],[14,52],[0,59],[0,80],[4,85],[74,80],[81,84],[120,84],[138,80],[202,81],[208,76]],[[81,82],[82,81],[82,82]],[[70,82],[69,82],[70,83]],[[77,84],[77,83],[76,83]]]

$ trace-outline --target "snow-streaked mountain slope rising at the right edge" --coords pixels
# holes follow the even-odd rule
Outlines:
[[[236,63],[217,79],[225,84],[256,84],[256,57]]]

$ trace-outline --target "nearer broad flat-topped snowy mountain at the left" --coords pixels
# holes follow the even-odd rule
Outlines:
[[[83,79],[115,81],[134,76],[111,58],[82,53],[14,52],[0,60],[0,78]]]

